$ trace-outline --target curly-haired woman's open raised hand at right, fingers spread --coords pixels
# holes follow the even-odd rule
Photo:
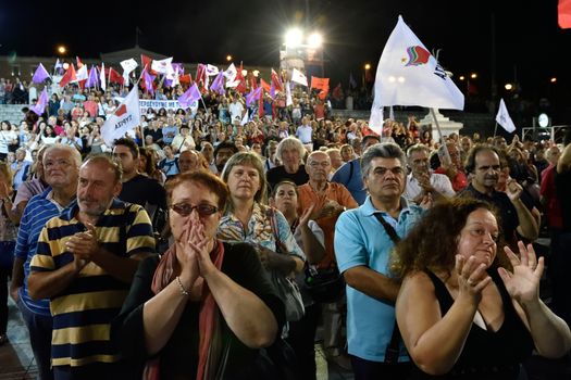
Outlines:
[[[513,267],[513,273],[505,268],[498,268],[498,274],[504,284],[506,284],[510,296],[523,305],[539,300],[539,280],[542,279],[545,264],[543,257],[537,259],[532,244],[525,246],[519,241],[518,248],[520,257],[509,246],[504,248]]]

